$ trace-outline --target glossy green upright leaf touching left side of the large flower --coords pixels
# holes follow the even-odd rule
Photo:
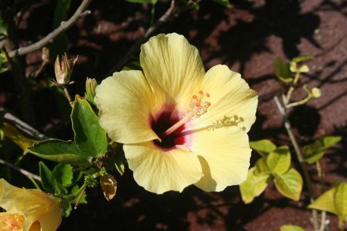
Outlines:
[[[90,104],[81,96],[76,96],[71,121],[77,146],[93,157],[103,155],[108,147],[106,131],[101,128]]]

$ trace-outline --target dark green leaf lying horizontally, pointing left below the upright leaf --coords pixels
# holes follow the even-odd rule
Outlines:
[[[60,139],[48,139],[34,144],[26,149],[29,153],[37,155],[45,160],[74,164],[78,166],[90,166],[90,157],[85,155],[78,146],[71,141]]]

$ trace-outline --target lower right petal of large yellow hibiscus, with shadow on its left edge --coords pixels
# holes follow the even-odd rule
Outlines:
[[[189,149],[201,162],[204,176],[196,186],[204,191],[223,191],[246,180],[251,148],[246,132],[237,127],[192,133]]]

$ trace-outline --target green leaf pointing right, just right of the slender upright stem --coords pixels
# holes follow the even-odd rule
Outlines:
[[[317,139],[313,144],[307,144],[303,147],[303,157],[307,163],[312,164],[323,157],[325,150],[340,141],[341,137],[339,136],[326,136]]]

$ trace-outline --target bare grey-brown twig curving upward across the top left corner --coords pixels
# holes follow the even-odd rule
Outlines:
[[[83,0],[83,2],[78,7],[74,15],[72,15],[66,22],[62,22],[62,24],[60,24],[58,28],[46,35],[46,37],[42,38],[42,40],[35,42],[34,44],[31,44],[29,46],[20,47],[19,49],[10,51],[8,52],[8,56],[10,58],[13,58],[19,55],[26,55],[27,53],[31,53],[38,49],[42,49],[42,47],[46,46],[46,44],[53,42],[55,37],[57,37],[58,35],[60,35],[60,33],[66,31],[68,28],[74,25],[77,22],[77,19],[90,13],[90,11],[85,11],[85,9],[89,6],[91,2],[92,0]]]

